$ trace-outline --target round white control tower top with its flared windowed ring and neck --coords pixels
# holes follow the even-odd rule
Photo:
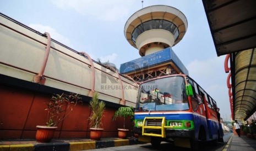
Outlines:
[[[138,10],[127,20],[124,36],[139,49],[140,56],[176,45],[187,31],[186,16],[167,5],[153,5]]]

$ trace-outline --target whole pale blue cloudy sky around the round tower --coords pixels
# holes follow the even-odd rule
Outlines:
[[[144,0],[143,7],[170,5],[188,20],[187,33],[172,47],[190,77],[214,98],[221,117],[231,111],[224,71],[225,56],[217,57],[201,0]],[[140,57],[124,37],[128,18],[141,9],[140,0],[1,0],[0,12],[68,47],[85,51],[92,59],[121,63]]]

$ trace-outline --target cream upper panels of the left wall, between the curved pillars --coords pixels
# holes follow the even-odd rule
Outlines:
[[[0,22],[0,74],[32,82],[41,69],[47,38],[3,16],[0,16]],[[137,95],[134,86],[137,84],[122,76],[119,80],[117,73],[97,62],[93,64],[95,83],[92,82],[89,59],[52,40],[43,73],[45,85],[87,96],[94,84],[102,100],[119,103],[122,99],[122,80],[126,105],[134,106]]]

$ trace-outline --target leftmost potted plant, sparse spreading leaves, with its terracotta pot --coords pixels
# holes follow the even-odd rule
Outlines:
[[[73,111],[77,103],[81,102],[79,94],[70,93],[52,95],[46,105],[45,111],[47,111],[46,125],[37,125],[36,141],[37,142],[50,142],[53,138],[58,123],[63,121]]]

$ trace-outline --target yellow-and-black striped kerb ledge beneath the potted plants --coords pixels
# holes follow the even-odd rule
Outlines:
[[[127,140],[119,138],[102,138],[100,141],[90,139],[55,139],[50,143],[38,143],[35,140],[2,140],[0,141],[0,151],[28,150],[28,151],[73,151],[88,150],[97,148],[127,146],[139,144],[137,138],[132,137]]]

